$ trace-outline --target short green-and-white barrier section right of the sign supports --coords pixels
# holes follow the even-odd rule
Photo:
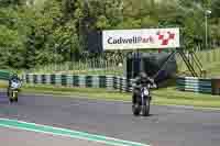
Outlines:
[[[220,79],[178,77],[176,85],[177,89],[182,91],[220,94]]]

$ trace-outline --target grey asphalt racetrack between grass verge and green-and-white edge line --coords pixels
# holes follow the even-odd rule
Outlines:
[[[6,93],[1,93],[0,117],[152,146],[220,146],[219,111],[154,105],[151,116],[135,117],[131,112],[131,103],[21,96],[19,103],[9,104]]]

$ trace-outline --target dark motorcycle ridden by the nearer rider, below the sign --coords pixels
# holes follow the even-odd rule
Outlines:
[[[151,85],[143,85],[139,89],[139,97],[138,97],[138,102],[132,106],[132,111],[134,115],[140,115],[142,112],[143,116],[148,116],[150,115],[150,104],[151,104],[151,93],[150,89],[151,88],[156,88],[156,85],[154,83],[153,86]]]

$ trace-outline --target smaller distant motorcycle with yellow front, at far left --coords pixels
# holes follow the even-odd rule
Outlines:
[[[12,80],[10,87],[9,87],[9,100],[10,102],[18,102],[18,96],[21,88],[21,81],[20,80]]]

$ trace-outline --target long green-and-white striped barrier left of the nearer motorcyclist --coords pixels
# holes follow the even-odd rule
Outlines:
[[[116,76],[34,75],[22,76],[30,85],[57,85],[64,87],[106,88],[121,92],[132,91],[132,79]]]

